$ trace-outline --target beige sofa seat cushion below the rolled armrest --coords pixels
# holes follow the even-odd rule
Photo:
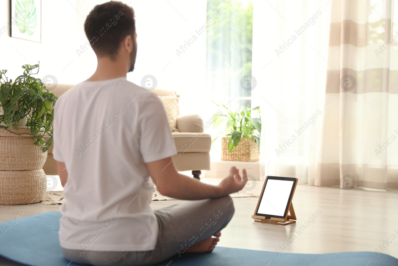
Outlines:
[[[173,132],[177,152],[210,152],[211,135],[207,133]]]

